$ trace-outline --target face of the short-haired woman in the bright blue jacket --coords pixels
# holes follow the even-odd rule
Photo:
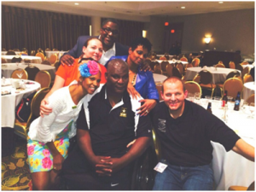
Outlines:
[[[136,65],[140,65],[143,64],[147,56],[148,49],[143,48],[143,45],[138,45],[137,49],[129,49],[129,59],[127,61],[131,61]]]

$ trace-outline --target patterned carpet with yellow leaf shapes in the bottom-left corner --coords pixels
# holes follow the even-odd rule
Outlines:
[[[16,144],[14,154],[1,158],[1,191],[32,191],[26,157],[26,141],[22,141]]]

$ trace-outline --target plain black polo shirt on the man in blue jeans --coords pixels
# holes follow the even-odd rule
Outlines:
[[[165,102],[152,110],[154,129],[160,138],[162,158],[175,166],[203,166],[212,161],[212,142],[226,151],[240,138],[205,108],[185,100],[182,116],[173,119]]]

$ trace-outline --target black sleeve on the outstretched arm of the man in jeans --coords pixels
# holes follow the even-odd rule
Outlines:
[[[207,137],[216,143],[224,146],[226,151],[230,151],[240,139],[236,132],[230,129],[221,119],[218,119],[212,113],[205,112],[202,116],[205,119],[205,127],[207,127]]]

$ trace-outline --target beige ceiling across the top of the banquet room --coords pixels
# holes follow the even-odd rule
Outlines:
[[[75,5],[74,3],[79,3]],[[1,4],[77,15],[98,15],[126,20],[150,16],[195,15],[238,9],[255,9],[255,1],[1,1]],[[185,7],[185,9],[181,9]],[[146,19],[145,19],[146,18]]]

